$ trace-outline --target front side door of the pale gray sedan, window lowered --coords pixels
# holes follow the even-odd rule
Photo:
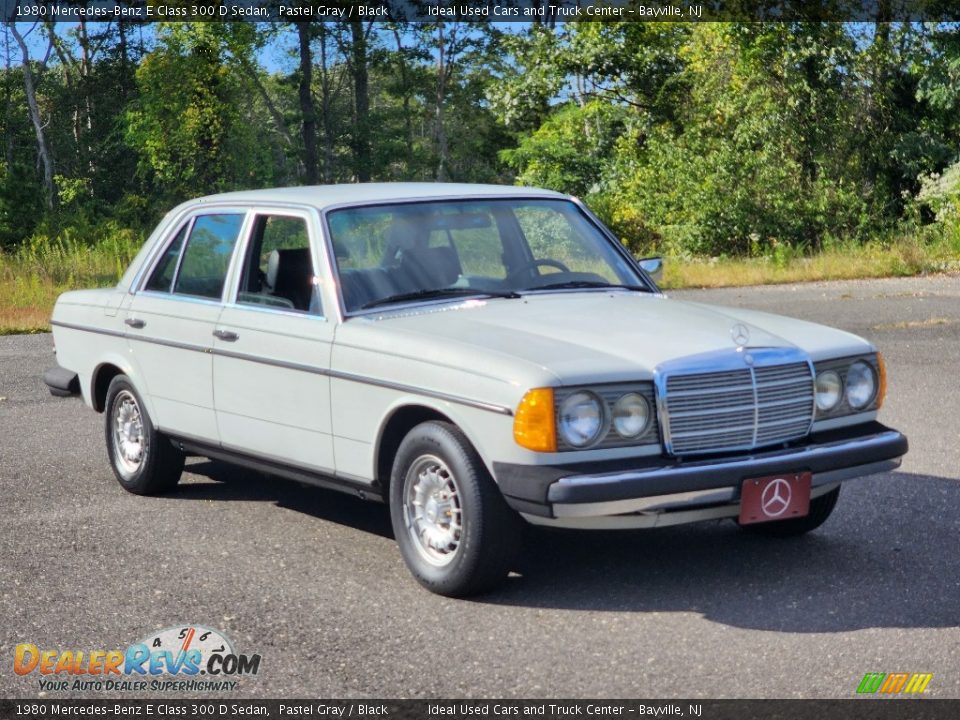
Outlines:
[[[335,322],[320,292],[329,271],[317,223],[306,210],[252,212],[216,327],[214,403],[224,448],[332,474]]]

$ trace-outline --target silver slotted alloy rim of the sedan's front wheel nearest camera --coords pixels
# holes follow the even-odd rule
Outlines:
[[[404,522],[417,552],[431,565],[450,563],[460,547],[463,519],[460,489],[450,468],[423,455],[404,478]]]

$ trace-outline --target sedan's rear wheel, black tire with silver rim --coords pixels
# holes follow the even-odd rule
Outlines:
[[[136,432],[134,412],[139,417],[139,432]],[[131,435],[118,430],[118,426],[124,424],[130,424]],[[155,495],[170,490],[180,481],[183,453],[154,428],[140,394],[126,375],[117,375],[107,388],[104,432],[110,467],[124,490],[136,495]],[[139,442],[130,440],[134,436],[139,437]],[[139,447],[138,459],[131,459],[120,447],[128,442],[128,448],[134,448],[130,453]]]

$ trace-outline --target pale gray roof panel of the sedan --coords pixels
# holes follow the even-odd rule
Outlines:
[[[343,185],[307,185],[301,187],[241,190],[207,195],[185,205],[205,203],[286,203],[308,205],[323,210],[334,205],[380,203],[392,200],[446,199],[457,197],[549,197],[565,195],[541,188],[469,183],[352,183]]]

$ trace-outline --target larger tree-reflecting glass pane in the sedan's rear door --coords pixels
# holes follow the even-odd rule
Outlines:
[[[201,215],[193,223],[173,291],[219,299],[244,215]]]

